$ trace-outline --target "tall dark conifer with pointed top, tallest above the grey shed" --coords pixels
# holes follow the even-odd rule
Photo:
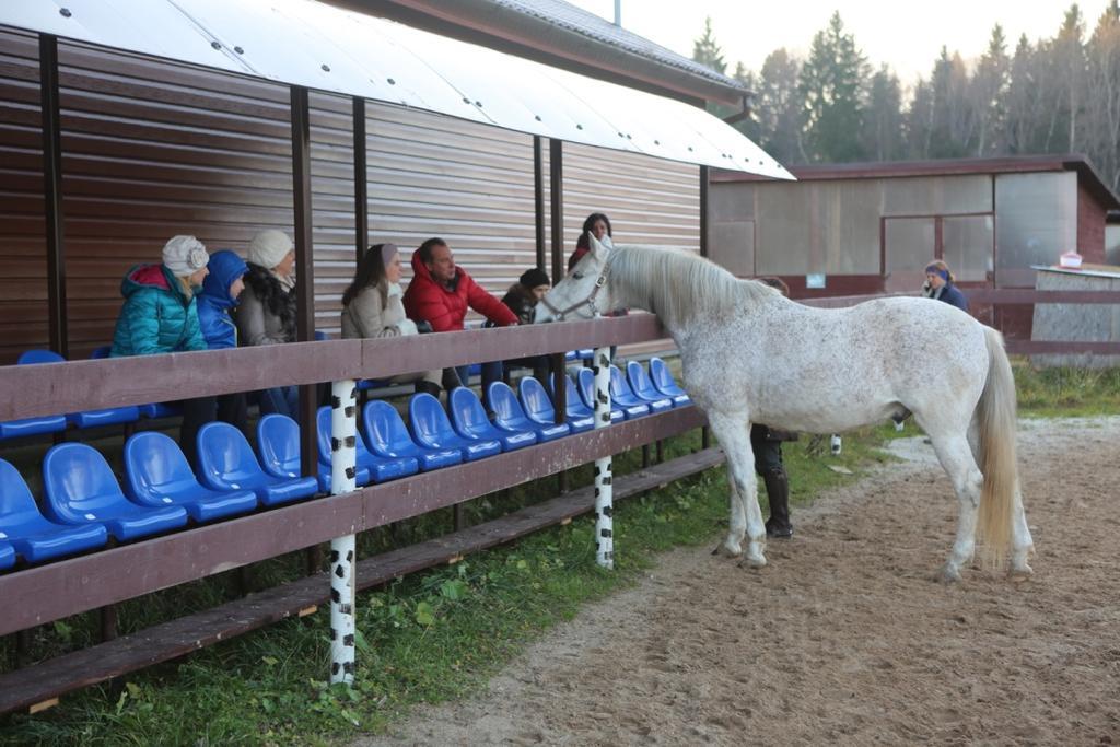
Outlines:
[[[814,160],[844,162],[865,157],[860,132],[867,77],[868,65],[855,37],[844,32],[840,13],[832,13],[829,25],[813,37],[799,84]]]

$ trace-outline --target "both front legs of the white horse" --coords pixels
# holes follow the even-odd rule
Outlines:
[[[766,564],[763,548],[766,526],[758,507],[758,485],[755,479],[755,455],[750,449],[750,423],[745,413],[708,413],[712,432],[727,455],[727,477],[730,483],[731,523],[722,551],[732,558],[743,554],[743,536],[748,538],[747,563],[754,568]]]

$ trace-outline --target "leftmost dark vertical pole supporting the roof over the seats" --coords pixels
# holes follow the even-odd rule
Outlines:
[[[58,38],[49,34],[39,35],[39,108],[43,112],[43,197],[47,220],[47,324],[50,349],[68,358]]]

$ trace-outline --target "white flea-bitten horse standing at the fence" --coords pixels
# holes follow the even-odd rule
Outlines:
[[[1030,573],[1015,380],[998,332],[924,298],[815,309],[692,254],[590,240],[534,321],[622,308],[657,315],[680,349],[684,387],[727,454],[731,521],[719,549],[740,555],[746,533],[748,564],[766,564],[752,422],[836,433],[912,412],[960,502],[941,577],[960,579],[978,530],[991,560],[1010,554],[1012,573]]]

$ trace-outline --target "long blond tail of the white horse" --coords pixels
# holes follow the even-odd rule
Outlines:
[[[988,380],[976,410],[980,427],[979,467],[983,473],[977,535],[984,543],[984,560],[1001,566],[1011,547],[1011,522],[1015,502],[1019,499],[1015,375],[1004,351],[1004,336],[991,327],[983,329]]]

